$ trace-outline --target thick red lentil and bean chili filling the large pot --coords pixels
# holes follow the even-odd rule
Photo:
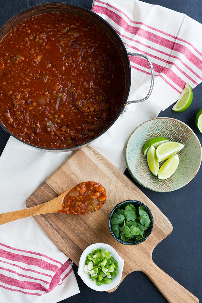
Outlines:
[[[121,107],[124,66],[100,28],[80,16],[25,19],[0,42],[0,121],[42,148],[97,137]]]

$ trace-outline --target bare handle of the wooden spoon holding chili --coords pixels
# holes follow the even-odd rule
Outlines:
[[[54,200],[55,199],[48,201],[44,204],[36,205],[30,208],[25,208],[17,211],[10,211],[0,214],[0,225],[22,218],[56,212],[58,210],[58,205],[54,204]]]

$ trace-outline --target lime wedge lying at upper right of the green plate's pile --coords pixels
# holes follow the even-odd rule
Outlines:
[[[164,161],[176,154],[184,147],[184,144],[178,142],[165,142],[159,145],[156,149],[156,156],[158,161]]]

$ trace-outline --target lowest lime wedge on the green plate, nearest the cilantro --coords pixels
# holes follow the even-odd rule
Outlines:
[[[158,178],[165,180],[171,177],[172,174],[176,171],[178,164],[179,164],[178,155],[174,155],[171,158],[167,159],[159,169]]]

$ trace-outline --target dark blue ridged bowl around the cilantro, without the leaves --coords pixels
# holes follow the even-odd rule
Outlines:
[[[126,205],[126,204],[132,204],[132,205],[134,205],[135,207],[138,207],[138,206],[141,205],[141,206],[143,206],[144,208],[146,208],[147,213],[148,213],[149,218],[150,218],[150,221],[151,221],[150,226],[149,226],[149,228],[147,229],[147,233],[145,234],[144,238],[142,238],[141,240],[138,240],[138,241],[136,241],[136,242],[129,242],[129,241],[125,242],[125,241],[119,239],[118,237],[116,237],[116,236],[114,235],[114,233],[113,233],[113,231],[112,231],[112,229],[111,229],[111,218],[112,218],[112,215],[113,215],[114,211],[116,211],[117,208],[118,208],[120,205],[123,205],[123,206],[124,206],[124,205]],[[110,214],[110,216],[109,216],[109,229],[110,229],[110,231],[111,231],[112,236],[113,236],[117,241],[119,241],[120,243],[125,244],[125,245],[137,245],[137,244],[142,243],[143,241],[145,241],[145,240],[149,237],[149,235],[151,234],[152,229],[153,229],[153,225],[154,225],[154,218],[153,218],[153,216],[152,216],[151,210],[150,210],[144,203],[142,203],[142,202],[140,202],[140,201],[136,201],[136,200],[126,200],[126,201],[123,201],[123,202],[117,204],[117,205],[114,207],[114,209],[111,211],[111,214]]]

